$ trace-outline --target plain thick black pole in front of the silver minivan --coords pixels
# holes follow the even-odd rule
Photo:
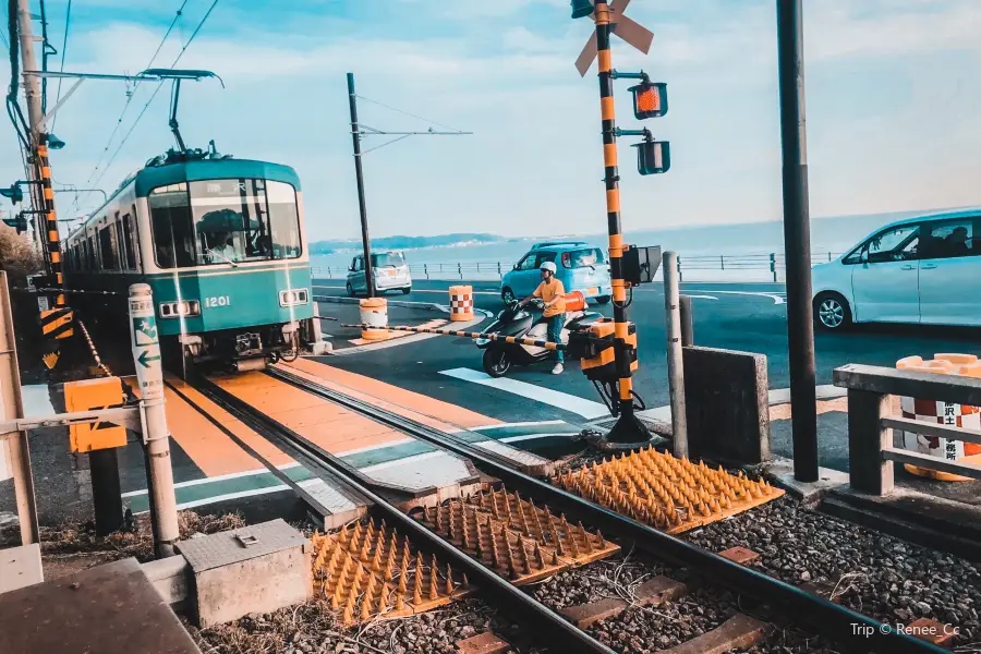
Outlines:
[[[811,306],[811,227],[808,207],[808,146],[804,110],[801,0],[777,0],[777,66],[784,185],[784,249],[787,257],[787,334],[794,477],[818,481],[818,408],[814,323]]]

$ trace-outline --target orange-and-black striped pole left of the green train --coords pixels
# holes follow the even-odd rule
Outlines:
[[[45,364],[51,368],[58,362],[57,341],[74,334],[72,310],[64,299],[64,268],[61,259],[61,238],[58,234],[58,216],[55,214],[55,189],[51,185],[51,164],[48,159],[48,135],[38,134],[36,166],[37,179],[40,181],[41,214],[38,219],[38,231],[41,232],[45,263],[48,268],[48,287],[55,289],[47,293],[48,307],[40,312],[41,334],[50,339]]]

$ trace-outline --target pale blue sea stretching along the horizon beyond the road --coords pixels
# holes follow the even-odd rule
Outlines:
[[[898,211],[812,219],[812,261],[827,261],[828,255],[836,256],[845,252],[876,228],[922,213],[924,211]],[[606,234],[569,238],[603,249],[607,245]],[[778,268],[782,268],[784,257],[784,226],[780,221],[627,231],[625,239],[637,245],[661,245],[663,251],[674,250],[681,258],[685,278],[691,280],[772,280],[770,254],[776,255]],[[403,252],[415,277],[420,276],[425,265],[429,277],[434,279],[459,279],[461,268],[465,279],[491,279],[498,276],[498,263],[501,270],[507,271],[533,243],[543,240],[545,239],[516,238],[498,243],[424,247]],[[344,277],[353,256],[351,253],[315,255],[311,257],[311,265],[319,276]]]

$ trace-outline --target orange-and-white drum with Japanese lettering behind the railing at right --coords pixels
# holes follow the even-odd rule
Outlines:
[[[896,367],[918,373],[981,377],[981,362],[973,354],[941,353],[934,354],[932,360],[927,361],[920,356],[907,356],[897,361]],[[981,410],[978,407],[940,400],[900,397],[899,408],[903,412],[903,417],[910,420],[981,431]],[[912,432],[903,432],[901,434],[904,447],[921,455],[945,458],[952,461],[981,462],[981,446],[972,443],[924,436]],[[908,463],[904,468],[911,474],[944,482],[970,481],[970,477],[928,470]]]

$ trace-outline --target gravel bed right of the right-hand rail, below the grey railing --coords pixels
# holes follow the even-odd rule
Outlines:
[[[833,590],[835,601],[891,625],[925,617],[958,628],[955,645],[981,640],[976,564],[807,510],[789,497],[694,530],[712,552],[748,547],[779,579]]]

